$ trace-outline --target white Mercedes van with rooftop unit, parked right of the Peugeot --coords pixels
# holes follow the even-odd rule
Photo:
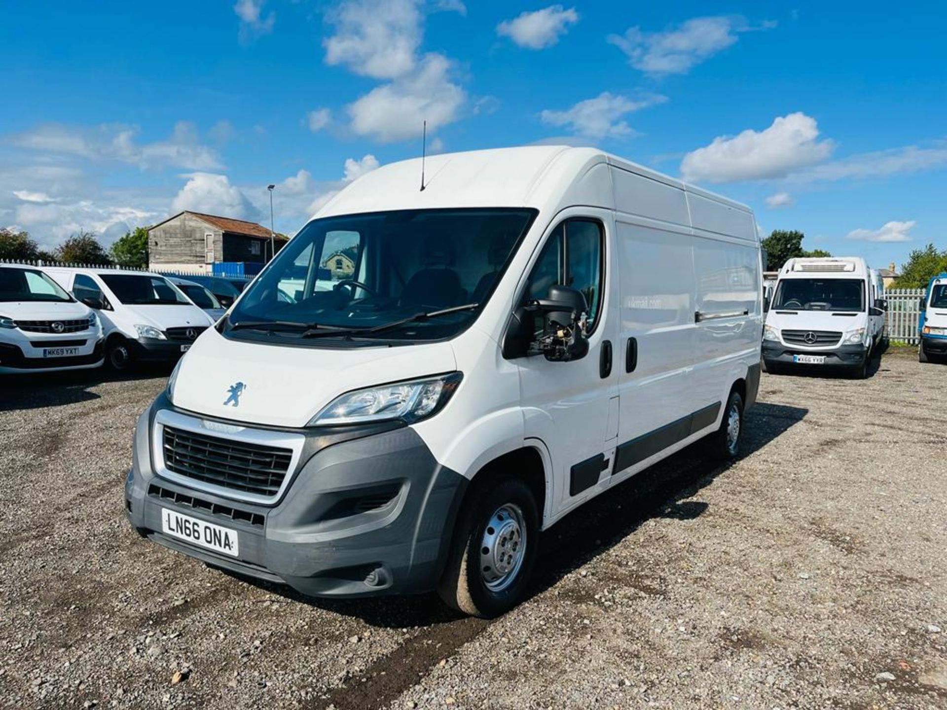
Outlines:
[[[884,300],[871,299],[868,276],[862,257],[789,259],[763,329],[767,372],[816,365],[867,377],[884,329]]]

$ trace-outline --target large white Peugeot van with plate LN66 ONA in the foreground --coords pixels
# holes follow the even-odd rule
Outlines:
[[[593,149],[426,175],[347,186],[178,364],[134,437],[142,535],[307,595],[438,589],[493,615],[570,510],[702,437],[738,454],[763,318],[747,207]]]

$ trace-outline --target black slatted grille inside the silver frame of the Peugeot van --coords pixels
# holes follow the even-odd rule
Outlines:
[[[275,496],[289,473],[293,452],[164,428],[165,467],[196,481]]]

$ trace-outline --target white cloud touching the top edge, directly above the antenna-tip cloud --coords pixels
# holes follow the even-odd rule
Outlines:
[[[326,63],[356,74],[394,79],[414,69],[421,39],[418,0],[350,0],[329,15],[335,34],[323,41]]]

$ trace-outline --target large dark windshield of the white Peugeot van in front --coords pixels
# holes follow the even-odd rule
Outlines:
[[[486,303],[535,215],[431,209],[315,220],[247,287],[224,333],[267,342],[342,330],[348,340],[452,337]]]

